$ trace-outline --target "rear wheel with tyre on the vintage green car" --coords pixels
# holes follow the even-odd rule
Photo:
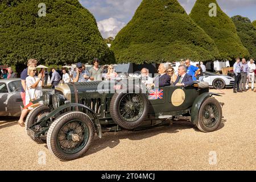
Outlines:
[[[222,108],[220,102],[215,98],[207,98],[199,109],[197,128],[205,133],[218,129],[222,119]]]

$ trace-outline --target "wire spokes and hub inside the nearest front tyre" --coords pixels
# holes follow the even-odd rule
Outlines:
[[[66,123],[57,135],[58,146],[66,154],[76,154],[81,151],[88,139],[88,126],[79,120]]]

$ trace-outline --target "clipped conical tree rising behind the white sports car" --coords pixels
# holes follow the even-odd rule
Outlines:
[[[217,6],[217,16],[210,16],[210,3]],[[249,57],[249,52],[237,35],[236,27],[218,6],[216,0],[197,0],[190,17],[214,40],[221,60],[234,60],[236,57]]]

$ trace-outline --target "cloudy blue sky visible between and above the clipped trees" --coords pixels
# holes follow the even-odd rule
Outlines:
[[[189,14],[196,0],[178,0]],[[104,38],[115,36],[133,15],[142,0],[80,0],[96,18]],[[230,17],[242,15],[256,20],[256,0],[217,0]]]

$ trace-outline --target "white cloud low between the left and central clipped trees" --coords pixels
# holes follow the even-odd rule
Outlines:
[[[118,21],[116,18],[109,18],[101,20],[98,23],[98,30],[100,30],[103,38],[113,38],[125,26],[125,23]]]

